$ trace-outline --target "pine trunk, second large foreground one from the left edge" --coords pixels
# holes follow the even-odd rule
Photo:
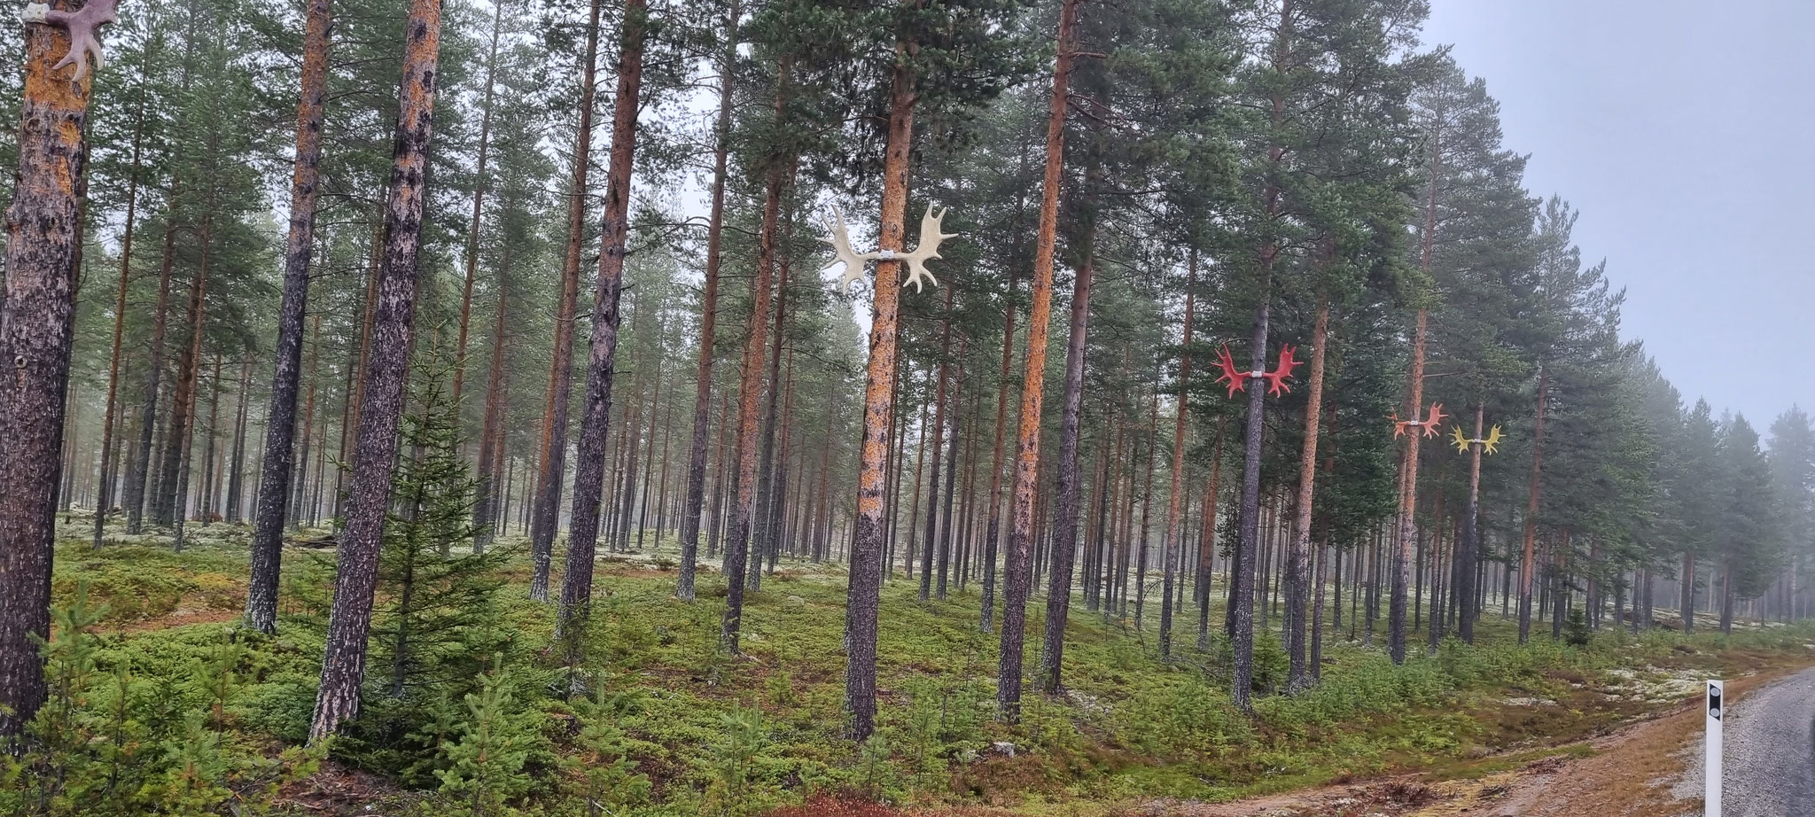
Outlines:
[[[245,626],[278,630],[278,570],[296,445],[296,390],[303,367],[303,316],[309,310],[309,261],[321,176],[321,120],[327,103],[332,0],[310,0],[303,31],[301,102],[296,107],[296,169],[290,180],[290,234],[283,245],[283,301],[278,307],[276,367],[265,410],[265,458],[252,505],[252,570]]]

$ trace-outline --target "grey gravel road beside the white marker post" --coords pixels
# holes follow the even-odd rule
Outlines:
[[[1815,817],[1815,670],[1753,690],[1726,717],[1724,817]],[[1677,797],[1702,795],[1702,743]]]

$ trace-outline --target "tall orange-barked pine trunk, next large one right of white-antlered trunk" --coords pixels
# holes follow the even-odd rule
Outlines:
[[[1035,501],[1040,479],[1040,408],[1045,394],[1047,323],[1053,318],[1053,251],[1058,236],[1058,187],[1065,171],[1065,111],[1071,102],[1071,65],[1076,58],[1073,33],[1078,0],[1065,0],[1058,13],[1058,56],[1053,60],[1053,100],[1045,122],[1045,172],[1040,182],[1040,234],[1035,240],[1031,307],[1027,312],[1027,361],[1022,379],[1020,421],[1015,441],[1015,487],[1009,497],[1009,552],[1006,565],[1002,652],[996,668],[996,706],[1006,721],[1020,721],[1022,641],[1027,628],[1027,596],[1035,548]]]

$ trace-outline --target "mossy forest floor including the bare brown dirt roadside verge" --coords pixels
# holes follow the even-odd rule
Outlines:
[[[113,650],[165,655],[231,639],[249,536],[227,525],[191,532],[194,545],[182,554],[158,534],[111,539],[98,552],[69,541],[58,552],[56,596],[65,601],[83,586],[105,603],[94,632]],[[330,557],[287,548],[285,586],[319,590]],[[1661,817],[1675,812],[1668,788],[1653,783],[1683,763],[1673,752],[1699,724],[1683,714],[1684,701],[1701,694],[1701,679],[1728,677],[1744,694],[1815,664],[1815,630],[1806,626],[1732,637],[1604,628],[1586,646],[1548,637],[1521,646],[1496,610],[1476,646],[1445,643],[1394,668],[1365,639],[1347,639],[1365,626],[1343,610],[1321,686],[1294,697],[1274,694],[1285,674],[1274,615],[1258,639],[1261,697],[1249,715],[1229,703],[1227,645],[1212,637],[1209,650],[1196,648],[1196,610],[1174,634],[1180,648],[1160,659],[1154,588],[1142,625],[1133,610],[1105,615],[1074,603],[1065,694],[1027,695],[1020,723],[1004,724],[993,717],[998,639],[978,632],[976,583],[918,603],[918,577],[897,577],[884,590],[886,743],[877,753],[840,737],[842,568],[784,559],[750,596],[737,657],[713,646],[724,599],[717,572],[702,565],[701,601],[686,605],[672,597],[673,568],[666,541],[599,561],[588,655],[604,690],[633,701],[617,724],[626,759],[650,783],[644,804],[623,813],[1499,817],[1552,813],[1563,802],[1572,813]],[[528,559],[512,557],[505,570],[499,596],[508,597],[508,637],[521,646],[515,661],[552,675],[548,650],[534,646],[548,643],[548,610],[523,599]],[[265,652],[236,699],[236,723],[276,744],[296,743],[296,712],[307,715],[312,699],[319,634],[310,626],[319,625],[305,606],[287,597],[280,637],[252,646]],[[1042,630],[1036,603],[1027,666],[1036,666]],[[1548,625],[1537,632],[1548,635]],[[552,724],[570,717],[561,712],[548,704]],[[724,733],[741,717],[759,724],[760,739],[728,783],[719,772]],[[563,741],[550,737],[550,752],[561,753]],[[559,788],[564,772],[546,773],[555,783],[543,788]],[[345,755],[289,786],[285,799],[301,813],[372,813],[423,784]]]

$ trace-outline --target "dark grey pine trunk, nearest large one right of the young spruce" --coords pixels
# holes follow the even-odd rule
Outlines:
[[[599,499],[604,487],[604,443],[612,438],[612,383],[617,363],[619,300],[624,290],[624,251],[630,240],[630,172],[637,158],[637,116],[643,107],[643,36],[646,0],[624,0],[623,40],[617,53],[617,96],[612,102],[612,160],[604,176],[604,220],[599,238],[599,283],[592,298],[592,343],[586,361],[586,405],[579,427],[574,470],[574,517],[568,528],[566,572],[561,577],[561,623],[572,626],[592,612],[592,568],[599,546]],[[563,407],[555,407],[564,414]],[[564,418],[559,427],[564,434]],[[555,472],[559,479],[559,470]],[[550,503],[552,507],[554,503]],[[554,519],[543,534],[554,539]],[[543,557],[546,561],[546,556]],[[546,574],[546,570],[544,570]],[[546,577],[543,579],[546,585]],[[575,641],[577,645],[577,641]],[[570,652],[570,659],[577,654]]]

